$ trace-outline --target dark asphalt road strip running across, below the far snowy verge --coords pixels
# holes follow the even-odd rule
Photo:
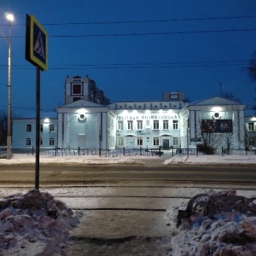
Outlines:
[[[145,165],[43,164],[40,183],[91,183],[115,181],[172,181],[193,183],[256,184],[255,165],[169,165],[149,161]],[[0,165],[0,183],[33,183],[35,166]]]

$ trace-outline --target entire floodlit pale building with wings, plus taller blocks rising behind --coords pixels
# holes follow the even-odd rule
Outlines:
[[[185,102],[171,91],[160,101],[113,102],[88,76],[65,80],[64,105],[41,117],[41,148],[187,148],[211,139],[217,148],[253,148],[256,119],[222,97]],[[35,147],[34,118],[14,118],[13,148]]]

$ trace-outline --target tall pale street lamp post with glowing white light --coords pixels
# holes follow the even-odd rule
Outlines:
[[[8,44],[8,117],[7,117],[7,159],[12,158],[12,124],[11,124],[11,21],[15,20],[14,15],[6,15],[9,20],[9,44]]]

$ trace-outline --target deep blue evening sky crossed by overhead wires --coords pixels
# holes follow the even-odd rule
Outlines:
[[[63,104],[68,76],[89,75],[111,102],[161,100],[180,90],[190,102],[222,91],[253,105],[247,77],[256,50],[255,0],[1,0],[12,12],[13,113],[35,108],[35,67],[25,60],[26,14],[49,33],[49,70],[41,73],[41,108]],[[0,38],[0,109],[7,108],[8,48]]]

